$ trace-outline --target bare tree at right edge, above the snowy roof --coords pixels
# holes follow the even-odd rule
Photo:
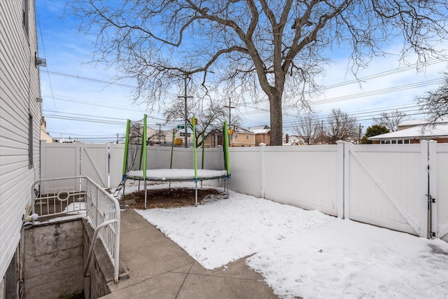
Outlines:
[[[417,97],[421,111],[428,113],[430,123],[435,123],[444,116],[448,116],[448,73],[444,74],[444,83],[435,91]]]

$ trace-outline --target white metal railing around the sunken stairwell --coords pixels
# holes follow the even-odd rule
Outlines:
[[[120,204],[88,176],[71,176],[36,181],[31,187],[32,212],[39,216],[80,214],[85,211],[87,220],[114,267],[113,279],[118,281],[120,252]],[[94,246],[96,240],[90,244]],[[87,263],[86,268],[89,263]],[[86,271],[85,271],[86,272]]]

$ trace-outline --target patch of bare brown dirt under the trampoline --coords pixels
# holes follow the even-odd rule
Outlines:
[[[165,188],[146,191],[146,208],[188,207],[195,205],[195,189],[191,188]],[[198,189],[197,203],[213,202],[224,198],[225,194],[215,189]],[[145,208],[145,191],[140,190],[126,194],[121,202],[132,209]]]

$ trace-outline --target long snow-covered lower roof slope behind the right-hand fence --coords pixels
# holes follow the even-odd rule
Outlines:
[[[425,122],[426,123],[426,122]],[[369,137],[369,140],[427,139],[448,137],[448,121],[435,125],[414,125],[404,130]]]

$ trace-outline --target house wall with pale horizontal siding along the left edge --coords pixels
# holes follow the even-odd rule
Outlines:
[[[42,60],[34,0],[1,0],[0,24],[0,298],[22,298],[22,217],[40,179]]]

